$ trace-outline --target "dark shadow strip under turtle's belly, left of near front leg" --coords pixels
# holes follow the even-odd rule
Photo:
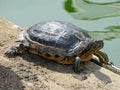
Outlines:
[[[23,60],[26,60],[28,62],[33,62],[36,66],[41,66],[43,68],[47,68],[52,71],[61,72],[61,73],[72,73],[72,74],[75,73],[73,71],[72,65],[60,64],[55,61],[48,60],[31,53],[24,55],[22,54],[21,57],[23,58]]]

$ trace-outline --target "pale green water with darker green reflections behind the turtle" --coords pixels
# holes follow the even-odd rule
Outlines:
[[[120,68],[120,0],[0,0],[0,17],[20,26],[71,22],[104,39],[103,51]]]

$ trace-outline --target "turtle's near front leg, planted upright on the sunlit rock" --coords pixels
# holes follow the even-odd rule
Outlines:
[[[80,62],[80,57],[75,57],[73,69],[77,73],[81,72],[83,70],[83,68],[81,67],[80,63],[81,63]]]

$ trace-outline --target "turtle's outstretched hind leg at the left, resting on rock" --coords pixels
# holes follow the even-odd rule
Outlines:
[[[22,54],[26,51],[26,47],[23,44],[15,45],[5,50],[5,55],[8,57]]]

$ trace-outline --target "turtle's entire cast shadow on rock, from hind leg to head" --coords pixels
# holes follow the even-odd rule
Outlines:
[[[60,73],[72,74],[74,78],[79,80],[84,80],[84,77],[83,79],[81,79],[81,76],[84,75],[86,77],[89,77],[89,75],[93,73],[99,80],[105,82],[106,84],[112,82],[109,76],[100,72],[99,69],[101,67],[95,65],[95,63],[92,63],[92,62],[82,63],[81,65],[83,66],[83,71],[81,73],[75,73],[73,71],[73,65],[59,64],[51,60],[46,60],[38,55],[33,55],[31,53],[21,55],[21,57],[28,62],[35,63],[36,66],[41,66],[49,70],[60,72]]]

